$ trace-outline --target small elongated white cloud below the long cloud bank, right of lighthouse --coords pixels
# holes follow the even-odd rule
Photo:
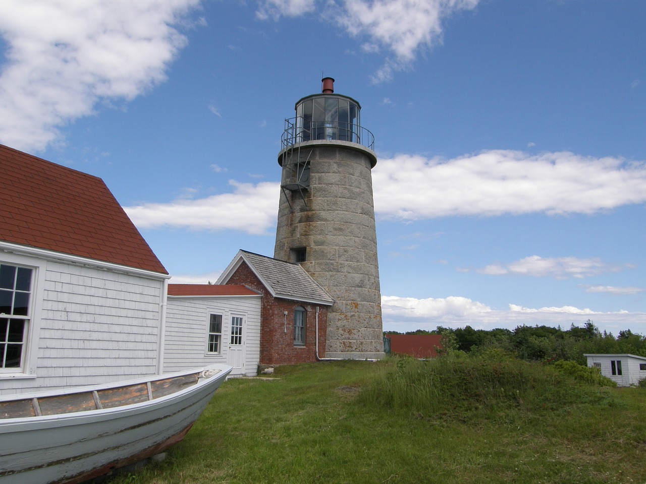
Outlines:
[[[599,276],[606,272],[618,272],[623,267],[604,263],[598,257],[579,259],[578,257],[540,257],[530,256],[508,264],[495,263],[478,269],[488,276],[531,276],[568,279],[575,277]]]

